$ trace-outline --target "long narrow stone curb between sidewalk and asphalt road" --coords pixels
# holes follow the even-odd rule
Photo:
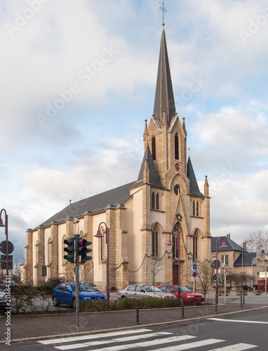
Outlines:
[[[165,324],[175,324],[175,323],[181,323],[181,322],[190,322],[190,321],[196,321],[200,319],[208,319],[216,316],[226,316],[229,314],[235,314],[235,313],[241,313],[241,312],[249,312],[249,311],[254,311],[254,310],[260,310],[262,308],[267,308],[268,306],[261,306],[261,307],[254,307],[254,308],[249,308],[248,310],[239,310],[239,311],[233,311],[233,312],[226,312],[226,313],[217,313],[217,314],[211,314],[208,316],[204,317],[194,317],[194,318],[185,318],[185,319],[177,319],[175,321],[170,321],[170,322],[158,322],[158,323],[152,323],[152,324],[139,324],[139,325],[133,325],[133,326],[123,326],[120,328],[112,328],[112,329],[100,329],[100,330],[95,330],[95,331],[81,331],[79,333],[68,333],[68,334],[57,334],[57,335],[50,335],[50,336],[34,336],[30,338],[20,338],[20,339],[15,339],[11,340],[12,343],[18,343],[22,341],[32,341],[32,340],[44,340],[44,339],[51,339],[51,338],[66,338],[68,336],[79,336],[79,335],[85,335],[85,334],[95,334],[95,333],[104,333],[107,331],[120,331],[120,330],[126,330],[126,329],[133,329],[133,328],[145,328],[145,327],[152,327],[152,326],[161,326]],[[6,343],[6,340],[0,340],[0,345]]]

